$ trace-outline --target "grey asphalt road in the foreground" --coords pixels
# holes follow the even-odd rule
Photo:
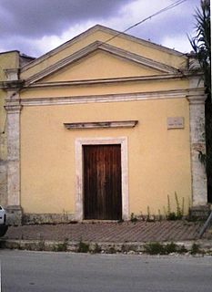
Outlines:
[[[0,250],[4,292],[211,292],[212,257]]]

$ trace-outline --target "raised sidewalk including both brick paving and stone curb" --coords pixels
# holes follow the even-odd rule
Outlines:
[[[142,253],[146,243],[162,245],[175,243],[192,249],[196,243],[212,253],[212,233],[208,230],[199,239],[204,222],[161,221],[136,223],[76,223],[10,226],[5,237],[0,239],[2,248],[17,248],[45,251],[79,252],[83,245],[86,251]]]

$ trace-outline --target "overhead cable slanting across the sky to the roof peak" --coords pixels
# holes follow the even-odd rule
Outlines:
[[[162,9],[158,10],[158,11],[157,11],[156,13],[154,13],[153,15],[151,15],[151,16],[147,16],[146,18],[144,18],[144,19],[138,21],[135,25],[127,27],[127,28],[126,28],[124,31],[122,31],[122,32],[118,32],[118,33],[116,34],[116,36],[112,36],[112,37],[108,38],[105,42],[102,42],[102,44],[106,44],[106,43],[108,43],[109,41],[111,41],[111,40],[114,39],[115,37],[120,36],[120,35],[122,35],[122,34],[125,34],[126,31],[128,31],[128,30],[130,30],[130,29],[132,29],[132,28],[134,28],[134,27],[136,27],[136,26],[139,26],[139,25],[143,24],[144,22],[146,22],[146,20],[149,20],[149,19],[151,19],[151,18],[153,18],[153,17],[155,17],[155,16],[158,16],[158,15],[160,15],[161,13],[166,12],[167,10],[170,10],[170,9],[172,9],[172,8],[175,8],[175,7],[177,7],[177,5],[181,5],[181,4],[183,4],[184,2],[186,2],[186,1],[187,1],[187,0],[177,0],[175,3],[172,3],[171,5],[167,5],[166,7],[164,7],[164,8],[162,8]]]

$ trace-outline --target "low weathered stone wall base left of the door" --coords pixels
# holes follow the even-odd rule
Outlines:
[[[22,224],[61,224],[73,223],[75,214],[23,214]]]

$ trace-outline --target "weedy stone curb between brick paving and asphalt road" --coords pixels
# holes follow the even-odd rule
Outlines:
[[[158,242],[161,245],[170,242]],[[184,246],[189,253],[194,244],[198,245],[201,251],[212,254],[212,240],[191,240],[174,242],[177,247]],[[142,254],[145,252],[146,242],[127,242],[127,243],[108,243],[108,242],[73,242],[73,241],[54,241],[54,240],[22,240],[22,239],[0,239],[0,248],[20,249],[31,251],[66,251],[66,252],[90,252],[106,254]]]

